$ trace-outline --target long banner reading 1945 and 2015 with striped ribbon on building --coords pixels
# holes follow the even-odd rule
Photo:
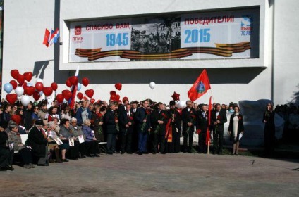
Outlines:
[[[259,58],[260,8],[74,22],[69,62]]]

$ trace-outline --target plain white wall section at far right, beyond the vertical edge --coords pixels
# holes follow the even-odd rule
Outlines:
[[[274,102],[286,103],[299,93],[299,1],[274,2]]]

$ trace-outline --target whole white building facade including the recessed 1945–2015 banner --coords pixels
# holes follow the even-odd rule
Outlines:
[[[116,90],[114,84],[120,82],[123,87],[117,94],[121,98],[152,98],[169,103],[173,91],[181,94],[181,101],[188,100],[188,89],[206,68],[212,92],[197,103],[207,103],[211,94],[217,103],[259,99],[270,99],[274,104],[295,102],[299,91],[295,49],[299,27],[293,25],[297,6],[295,0],[5,1],[2,83],[12,80],[12,69],[20,73],[30,71],[30,83],[35,84],[40,78],[49,87],[56,82],[57,93],[61,93],[69,89],[66,79],[79,66],[79,79],[90,80],[81,92],[94,89],[96,100],[108,100],[109,92]],[[173,21],[169,22],[169,18]],[[122,21],[123,26],[119,25]],[[114,30],[118,22],[122,30]],[[99,24],[112,24],[111,31]],[[45,28],[59,28],[60,44],[42,44]],[[142,31],[145,39],[137,43],[141,49],[135,49],[135,36],[138,34],[139,40]],[[168,39],[162,40],[162,34],[168,35]],[[247,36],[244,42],[250,43],[242,52],[236,45],[235,49],[229,45],[240,46],[241,34]],[[117,42],[118,35],[121,42]],[[156,44],[150,42],[151,37]],[[218,41],[226,46],[217,46]],[[167,47],[159,48],[159,44]],[[87,56],[90,53],[80,49],[99,51]],[[140,50],[138,55],[132,55],[136,50]],[[233,50],[236,53],[219,56],[213,50],[217,54]],[[113,56],[109,52],[111,56],[107,57],[105,51],[112,51]],[[174,53],[178,55],[175,58]],[[155,82],[154,89],[150,82]],[[4,98],[6,93],[2,92]]]

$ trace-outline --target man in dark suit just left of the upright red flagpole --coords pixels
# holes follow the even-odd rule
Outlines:
[[[196,132],[198,133],[198,153],[207,153],[205,145],[208,126],[208,106],[202,104],[201,109],[196,111]]]

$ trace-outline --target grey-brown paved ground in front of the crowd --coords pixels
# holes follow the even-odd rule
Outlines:
[[[101,155],[0,173],[0,196],[298,196],[299,159]]]

